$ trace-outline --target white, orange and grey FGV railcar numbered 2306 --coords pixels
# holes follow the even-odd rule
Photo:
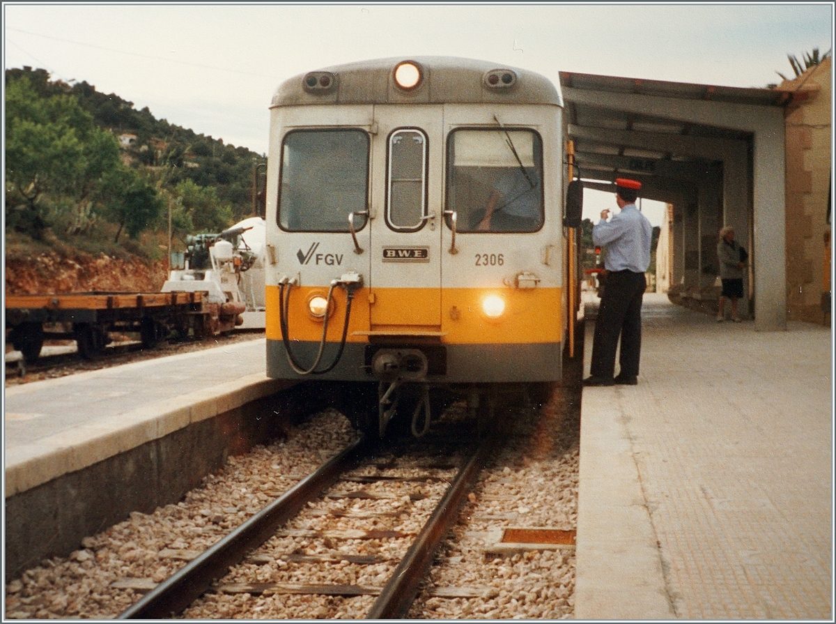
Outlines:
[[[423,415],[431,387],[558,380],[579,221],[565,141],[559,91],[524,69],[380,59],[281,84],[268,375],[375,386],[380,432],[407,386]]]

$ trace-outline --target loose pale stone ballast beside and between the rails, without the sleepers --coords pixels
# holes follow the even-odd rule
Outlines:
[[[509,527],[574,529],[579,460],[579,392],[558,388],[548,406],[514,407],[507,442],[480,474],[458,524],[410,611],[415,618],[564,618],[573,616],[574,550],[497,553],[497,534]],[[199,551],[262,509],[352,442],[357,433],[339,412],[327,410],[292,427],[286,439],[232,457],[177,504],[153,514],[131,514],[83,540],[72,555],[55,557],[6,586],[11,619],[112,618],[165,580]],[[429,493],[438,483],[421,485]],[[430,499],[427,499],[428,501]],[[418,504],[421,504],[419,501]],[[349,501],[346,511],[397,510],[404,499]],[[413,501],[411,503],[415,505]],[[429,504],[429,503],[427,503]],[[317,515],[295,528],[339,529],[340,519]],[[416,508],[417,509],[417,508]],[[411,514],[411,512],[410,512]],[[294,520],[295,521],[295,520]],[[293,524],[288,526],[293,527]],[[370,528],[375,522],[370,519]],[[284,543],[282,540],[286,540]],[[287,537],[273,546],[298,548]],[[349,542],[351,540],[348,540]],[[374,544],[364,547],[374,547]],[[386,546],[385,548],[394,548]],[[400,545],[398,546],[400,548]],[[378,553],[390,555],[388,553]],[[395,557],[394,554],[391,554]],[[335,562],[323,583],[380,587],[390,564]],[[246,572],[246,574],[245,574]],[[293,570],[263,557],[239,566],[223,582],[293,582]],[[252,576],[250,575],[252,574]],[[479,597],[461,597],[477,590]],[[471,593],[473,593],[471,591]],[[456,597],[460,596],[460,597]],[[358,618],[375,596],[207,594],[182,616],[236,618]]]

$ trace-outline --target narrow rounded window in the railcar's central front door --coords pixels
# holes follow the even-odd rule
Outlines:
[[[421,130],[395,130],[389,137],[386,222],[399,231],[426,222],[427,139]]]

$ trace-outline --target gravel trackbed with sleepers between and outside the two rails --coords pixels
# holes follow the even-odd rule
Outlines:
[[[571,616],[573,550],[503,555],[508,539],[502,531],[573,529],[578,488],[576,386],[577,393],[572,388],[556,392],[542,417],[533,417],[531,408],[512,407],[503,418],[507,431],[502,432],[502,446],[466,494],[407,617]],[[466,419],[462,407],[451,407],[442,422],[456,418],[469,427],[452,432],[453,437],[472,437],[475,424]],[[7,586],[6,616],[119,616],[175,575],[184,562],[195,560],[357,438],[345,417],[333,409],[287,434],[267,448],[231,457],[220,473],[181,502],[153,514],[131,514],[83,540],[80,550],[68,557],[28,570]],[[435,443],[430,439],[434,434],[435,430],[423,439]],[[451,430],[439,435],[450,436]],[[375,458],[364,459],[337,486],[305,504],[268,545],[245,555],[227,577],[212,581],[181,617],[365,617],[441,500],[446,482],[465,463],[457,455],[461,448],[452,443],[435,443],[423,453],[407,453],[404,445],[378,449]],[[408,535],[398,538],[386,531]]]

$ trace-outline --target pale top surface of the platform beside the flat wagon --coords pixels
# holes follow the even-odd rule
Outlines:
[[[5,389],[6,497],[284,386],[263,337]]]

